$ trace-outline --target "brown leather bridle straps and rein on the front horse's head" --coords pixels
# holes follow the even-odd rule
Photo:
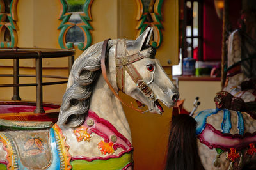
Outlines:
[[[140,113],[145,113],[148,112],[147,111],[143,111],[141,109],[136,109],[133,105],[131,104],[126,104],[124,102],[124,100],[122,100],[122,98],[120,98],[120,96],[118,95],[118,93],[116,93],[115,89],[113,88],[113,86],[111,85],[111,83],[108,80],[107,77],[107,73],[106,73],[106,65],[105,65],[105,61],[106,61],[106,50],[108,47],[108,40],[104,40],[103,45],[102,45],[102,52],[101,52],[101,71],[102,71],[102,75],[106,81],[106,83],[109,86],[109,89],[111,89],[111,91],[113,92],[113,94],[115,95],[116,98],[118,98],[118,100],[120,100],[120,102],[122,102],[122,104],[126,105],[127,107],[130,107],[131,109],[134,109],[135,111],[138,111]],[[126,52],[126,50],[125,50]],[[140,53],[136,53],[133,54],[131,56],[122,56],[119,58],[116,58],[116,79],[120,79],[120,73],[122,75],[121,78],[121,82],[124,85],[124,73],[125,70],[127,70],[127,72],[129,73],[129,75],[131,76],[132,80],[137,84],[138,88],[141,89],[141,91],[143,91],[143,93],[145,95],[147,95],[147,97],[149,98],[154,98],[154,94],[152,93],[152,90],[147,86],[147,84],[145,84],[145,82],[143,81],[143,78],[141,77],[140,73],[137,72],[136,68],[132,65],[132,63],[139,61],[140,59],[143,59],[144,56]],[[118,78],[119,77],[119,78]],[[117,84],[118,83],[117,81]],[[121,90],[124,92],[124,86],[118,86],[118,88],[121,87]]]

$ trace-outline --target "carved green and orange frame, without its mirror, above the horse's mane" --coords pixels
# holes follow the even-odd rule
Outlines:
[[[90,29],[93,29],[93,27],[89,24],[89,21],[92,20],[91,6],[93,3],[93,0],[85,1],[83,5],[83,13],[79,14],[82,22],[77,24],[68,22],[72,13],[67,12],[68,6],[67,6],[66,0],[60,0],[60,3],[61,3],[61,13],[60,13],[59,20],[62,20],[60,26],[58,27],[58,29],[61,29],[60,35],[58,38],[60,47],[63,49],[70,49],[74,47],[73,43],[66,42],[66,35],[68,32],[68,29],[70,29],[73,26],[78,26],[83,31],[85,40],[84,42],[78,43],[77,47],[79,50],[86,50],[92,44],[92,35],[90,33]]]

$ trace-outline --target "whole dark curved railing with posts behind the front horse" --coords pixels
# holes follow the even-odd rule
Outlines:
[[[13,59],[13,74],[0,74],[0,77],[13,77],[13,84],[0,84],[0,87],[13,87],[12,100],[21,100],[19,96],[20,86],[36,86],[36,109],[34,113],[44,113],[42,86],[67,83],[68,77],[55,75],[42,75],[43,58],[68,57],[68,70],[70,72],[74,63],[75,50],[73,49],[42,49],[42,48],[6,48],[0,49],[0,59]],[[19,59],[35,59],[36,75],[19,74]],[[36,77],[35,83],[20,84],[19,77]],[[65,81],[43,82],[43,77],[65,79]]]

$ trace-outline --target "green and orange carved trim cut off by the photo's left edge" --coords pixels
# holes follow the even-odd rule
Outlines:
[[[18,0],[12,0],[10,3],[10,13],[6,13],[4,0],[0,0],[0,48],[17,46],[17,2]],[[6,31],[10,33],[9,41],[5,40]]]

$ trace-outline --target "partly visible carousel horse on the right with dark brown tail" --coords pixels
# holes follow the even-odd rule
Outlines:
[[[216,109],[173,117],[166,169],[256,169],[255,69],[256,40],[234,31]]]

